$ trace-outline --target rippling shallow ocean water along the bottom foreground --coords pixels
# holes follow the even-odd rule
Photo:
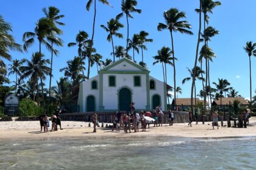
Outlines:
[[[0,169],[256,169],[256,138],[0,140]]]

